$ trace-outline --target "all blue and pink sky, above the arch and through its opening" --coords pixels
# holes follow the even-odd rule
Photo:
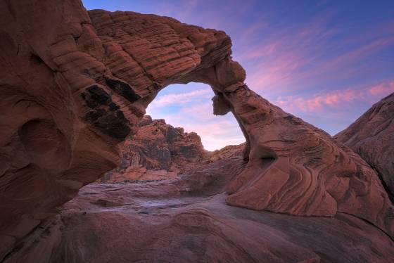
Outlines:
[[[394,92],[394,1],[82,0],[85,8],[154,13],[223,30],[250,89],[331,135]],[[212,114],[208,85],[167,86],[147,114],[196,131],[208,150],[245,139]]]

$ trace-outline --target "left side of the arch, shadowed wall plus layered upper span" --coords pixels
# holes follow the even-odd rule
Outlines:
[[[79,0],[2,1],[0,26],[0,250],[117,166],[162,86],[231,46],[224,32]]]

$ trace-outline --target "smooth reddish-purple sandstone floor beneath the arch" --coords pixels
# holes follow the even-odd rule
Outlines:
[[[90,184],[4,263],[393,262],[393,240],[349,214],[225,205],[223,188],[244,167],[230,158],[167,181]]]

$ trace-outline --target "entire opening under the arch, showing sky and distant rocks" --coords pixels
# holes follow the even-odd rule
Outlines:
[[[243,158],[246,139],[234,110],[208,84],[170,84],[122,146],[122,161],[101,182],[177,177],[217,160]]]

